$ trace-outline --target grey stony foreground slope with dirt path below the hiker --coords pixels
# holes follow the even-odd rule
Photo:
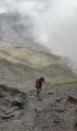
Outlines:
[[[28,94],[0,85],[0,131],[76,131],[77,86]]]

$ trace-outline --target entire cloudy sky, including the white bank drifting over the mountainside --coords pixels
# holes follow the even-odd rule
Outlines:
[[[68,57],[77,69],[77,0],[0,0],[0,13],[10,11],[28,15],[35,41]]]

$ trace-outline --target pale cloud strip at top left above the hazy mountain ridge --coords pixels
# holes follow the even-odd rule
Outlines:
[[[46,0],[44,0],[46,1]],[[33,11],[42,10],[43,0],[0,0],[0,8],[12,10],[17,10],[21,13],[26,14]]]

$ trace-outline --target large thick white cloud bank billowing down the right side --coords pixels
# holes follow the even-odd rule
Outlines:
[[[54,53],[68,57],[77,69],[77,1],[52,0],[42,12],[33,15],[36,41]]]

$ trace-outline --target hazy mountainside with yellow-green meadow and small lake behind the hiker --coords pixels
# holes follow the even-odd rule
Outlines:
[[[30,28],[33,24],[27,16],[23,20],[17,12],[0,14],[0,84],[34,88],[41,75],[51,86],[77,84],[77,76],[64,58],[35,43]]]

